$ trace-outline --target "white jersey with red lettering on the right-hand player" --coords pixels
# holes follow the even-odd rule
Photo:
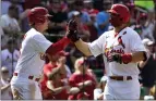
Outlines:
[[[132,28],[123,28],[116,37],[115,30],[103,34],[97,40],[88,43],[93,55],[104,54],[106,74],[108,76],[135,76],[139,75],[136,63],[120,64],[117,62],[107,62],[109,54],[134,53],[145,51],[137,33]]]

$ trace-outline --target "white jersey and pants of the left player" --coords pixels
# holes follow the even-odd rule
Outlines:
[[[44,53],[51,42],[35,28],[29,29],[22,41],[21,56],[17,61],[12,89],[16,89],[22,99],[43,99],[37,78],[40,77],[45,64]]]

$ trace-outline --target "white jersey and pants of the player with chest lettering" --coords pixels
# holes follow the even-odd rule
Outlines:
[[[107,61],[110,54],[134,53],[145,51],[137,33],[132,28],[123,28],[117,36],[115,30],[106,31],[97,40],[88,43],[89,50],[94,56],[104,54],[106,75],[108,76],[105,87],[104,99],[120,100],[120,99],[139,99],[140,83],[139,68],[136,63],[120,64],[116,61]],[[131,80],[115,80],[109,76],[131,76]]]

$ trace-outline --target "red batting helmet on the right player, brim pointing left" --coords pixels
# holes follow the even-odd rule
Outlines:
[[[130,11],[123,4],[113,4],[108,12],[118,14],[122,23],[128,23],[130,21]]]

